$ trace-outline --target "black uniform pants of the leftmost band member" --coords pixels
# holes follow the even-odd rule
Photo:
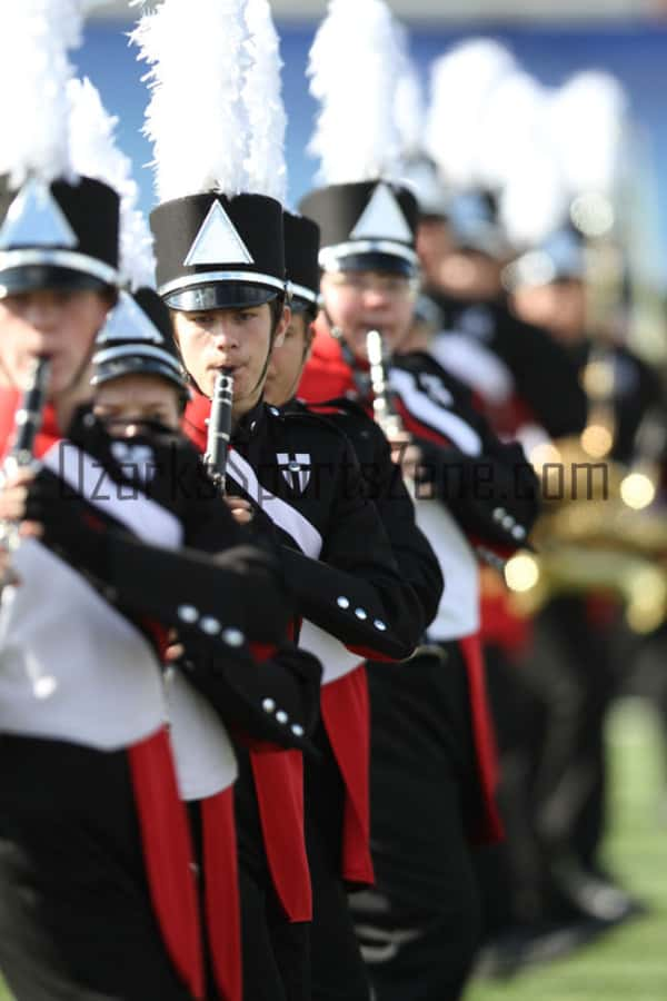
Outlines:
[[[125,752],[0,737],[0,969],[17,1001],[188,1001]]]

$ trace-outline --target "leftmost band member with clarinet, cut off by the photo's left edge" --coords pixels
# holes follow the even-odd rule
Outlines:
[[[3,53],[14,107],[0,153],[2,452],[26,377],[48,358],[33,453],[56,468],[63,433],[81,424],[118,266],[118,195],[78,177],[69,159],[67,46],[79,21],[73,7],[27,2],[3,28],[20,75]],[[24,483],[8,468],[4,518],[21,517]],[[149,538],[176,543],[168,517],[130,506]],[[66,561],[21,535],[0,612],[2,972],[18,999],[181,1001],[192,995],[172,960],[190,947],[178,914],[191,899],[190,856],[153,647]],[[161,901],[151,902],[147,863]]]

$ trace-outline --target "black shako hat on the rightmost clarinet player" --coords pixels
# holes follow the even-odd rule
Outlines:
[[[416,274],[418,210],[408,188],[382,180],[329,185],[302,198],[299,211],[320,228],[325,271]]]

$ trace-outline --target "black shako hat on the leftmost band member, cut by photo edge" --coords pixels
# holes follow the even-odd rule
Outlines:
[[[88,177],[30,178],[18,192],[0,177],[0,298],[116,285],[119,211],[116,191]]]

